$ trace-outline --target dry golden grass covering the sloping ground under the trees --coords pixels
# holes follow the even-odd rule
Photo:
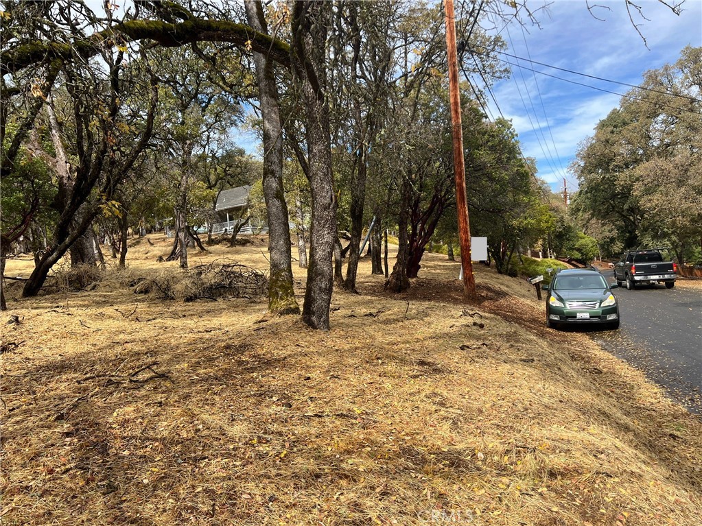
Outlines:
[[[699,524],[702,424],[545,330],[524,281],[476,266],[467,306],[444,256],[401,295],[363,262],[324,333],[256,299],[135,295],[177,272],[152,241],[3,318],[4,524]]]

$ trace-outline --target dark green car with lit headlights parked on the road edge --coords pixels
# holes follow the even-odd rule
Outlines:
[[[607,283],[597,269],[564,269],[557,272],[546,295],[546,325],[602,324],[619,328],[619,306],[611,289],[616,283]]]

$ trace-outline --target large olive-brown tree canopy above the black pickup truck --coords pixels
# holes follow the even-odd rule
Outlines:
[[[647,72],[578,152],[574,208],[607,257],[645,243],[682,257],[699,244],[701,62],[702,48],[688,46],[674,65]]]

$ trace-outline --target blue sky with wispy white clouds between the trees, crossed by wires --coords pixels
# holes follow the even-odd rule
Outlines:
[[[647,70],[675,62],[684,46],[702,46],[702,0],[685,1],[680,16],[658,0],[635,3],[649,19],[638,15],[634,18],[646,43],[630,22],[623,0],[590,1],[591,6],[609,6],[611,11],[593,8],[597,18],[604,21],[593,18],[583,0],[555,0],[548,9],[536,13],[540,28],[529,24],[522,32],[522,27],[512,23],[501,31],[501,36],[508,42],[508,53],[512,55],[638,85]],[[542,1],[529,2],[531,8],[543,4]],[[595,88],[621,94],[630,89],[503,58]],[[569,173],[568,166],[578,144],[593,135],[597,123],[618,107],[621,99],[618,95],[576,86],[526,69],[520,71],[513,66],[512,78],[497,83],[493,93],[502,114],[512,119],[524,155],[537,160],[538,177],[555,190],[562,189],[564,177],[569,190],[576,189],[577,180]],[[499,115],[494,102],[490,103],[490,111],[494,116]]]

